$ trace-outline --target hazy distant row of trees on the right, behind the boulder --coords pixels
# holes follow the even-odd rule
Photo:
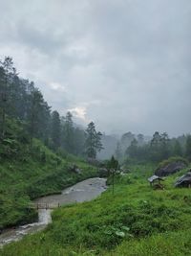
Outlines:
[[[142,134],[135,136],[127,132],[117,144],[116,156],[120,160],[132,159],[139,162],[159,162],[171,156],[191,160],[191,135],[170,139],[166,132],[156,131],[149,141],[145,141]]]

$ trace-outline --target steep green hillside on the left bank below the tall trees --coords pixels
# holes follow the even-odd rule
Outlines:
[[[0,229],[36,219],[29,210],[32,198],[58,193],[86,177],[95,176],[96,169],[72,155],[61,158],[39,140],[32,146],[22,125],[9,120],[9,139],[0,147]],[[76,164],[83,172],[74,174]]]

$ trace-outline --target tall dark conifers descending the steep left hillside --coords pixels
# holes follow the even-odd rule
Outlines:
[[[44,100],[33,81],[22,79],[11,57],[0,60],[0,143],[9,138],[8,119],[22,122],[29,139],[37,138],[57,152],[96,158],[102,149],[101,132],[93,122],[78,128],[71,112],[60,116]]]

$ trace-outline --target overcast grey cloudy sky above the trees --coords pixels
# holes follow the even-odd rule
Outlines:
[[[0,58],[106,133],[191,131],[190,0],[0,0]]]

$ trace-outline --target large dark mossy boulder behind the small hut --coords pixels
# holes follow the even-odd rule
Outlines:
[[[158,176],[173,175],[185,167],[186,167],[186,164],[182,161],[172,162],[156,170],[155,175],[158,175]]]

